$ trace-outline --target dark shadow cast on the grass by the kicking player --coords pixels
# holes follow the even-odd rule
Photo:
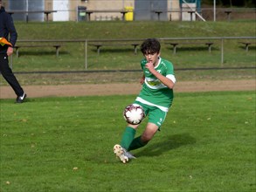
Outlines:
[[[174,134],[166,138],[166,140],[154,143],[150,147],[145,147],[142,151],[138,153],[133,153],[132,151],[132,154],[135,154],[136,157],[158,156],[172,149],[182,147],[185,145],[192,145],[194,143],[196,143],[196,139],[191,137],[190,134]]]

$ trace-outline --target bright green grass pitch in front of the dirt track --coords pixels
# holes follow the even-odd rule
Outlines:
[[[256,190],[255,92],[176,93],[162,131],[122,164],[112,148],[134,99],[1,99],[0,191]]]

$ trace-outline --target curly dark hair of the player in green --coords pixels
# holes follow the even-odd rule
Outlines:
[[[148,38],[141,45],[143,55],[159,53],[161,45],[156,38]]]

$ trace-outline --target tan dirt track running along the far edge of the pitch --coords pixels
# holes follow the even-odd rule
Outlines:
[[[142,86],[139,83],[80,84],[59,86],[24,86],[29,98],[66,97],[92,95],[137,94]],[[255,80],[221,80],[221,81],[181,81],[175,86],[176,93],[212,92],[212,91],[253,91]],[[0,87],[0,99],[15,98],[10,86]]]

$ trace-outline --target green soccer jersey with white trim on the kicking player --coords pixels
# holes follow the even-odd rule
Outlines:
[[[174,97],[173,90],[163,85],[163,83],[157,79],[155,75],[149,72],[149,70],[145,67],[147,63],[148,62],[145,58],[142,59],[141,65],[145,80],[141,93],[138,95],[136,100],[149,106],[156,106],[164,112],[168,112]],[[170,63],[170,61],[159,58],[158,65],[155,66],[155,69],[163,76],[169,79],[175,79],[173,65]]]

